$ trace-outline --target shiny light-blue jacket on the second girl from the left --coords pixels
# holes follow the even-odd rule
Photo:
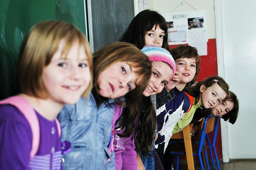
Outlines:
[[[115,169],[115,154],[109,152],[114,115],[114,100],[96,105],[89,98],[80,98],[75,105],[65,105],[58,115],[62,128],[61,141],[72,143],[63,155],[63,169]],[[111,160],[108,162],[108,158]]]

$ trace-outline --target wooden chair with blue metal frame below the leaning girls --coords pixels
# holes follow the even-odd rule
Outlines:
[[[209,118],[208,117],[204,118],[201,121],[201,123],[198,127],[198,130],[201,132],[199,138],[192,139],[193,156],[198,156],[199,157],[201,169],[204,169],[203,160],[202,160],[202,152],[204,152],[204,154],[205,154],[207,169],[210,169],[209,162],[208,162],[208,157],[207,157],[208,145],[206,144],[205,139],[207,138],[208,133],[212,132],[215,129],[216,129],[216,135],[217,135],[218,122],[219,122],[219,117],[213,117],[211,115]],[[215,133],[215,131],[214,131],[214,133]],[[211,148],[213,148],[213,146],[215,148],[215,141],[216,141],[216,138],[215,138],[215,140],[212,141],[212,144],[209,144],[209,146],[212,146]],[[177,141],[177,140],[172,140],[171,139],[170,142],[169,142],[169,145],[170,145],[170,153],[177,155],[177,167],[176,167],[176,169],[178,170],[179,155],[185,155],[184,141],[180,141],[180,140]],[[215,149],[215,151],[216,151],[216,149]],[[214,151],[214,153],[215,153],[215,151]],[[211,155],[211,157],[212,157],[212,155]],[[212,160],[213,160],[213,158],[212,158]],[[216,159],[216,162],[217,161],[218,161],[218,159]]]

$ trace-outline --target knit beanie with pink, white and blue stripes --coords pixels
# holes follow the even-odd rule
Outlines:
[[[173,78],[176,71],[176,65],[169,51],[167,51],[162,47],[158,47],[154,45],[146,45],[143,47],[143,49],[141,49],[141,51],[148,56],[149,61],[164,61],[167,64],[169,64],[173,69],[173,75],[172,75],[172,78]],[[170,79],[170,81],[172,80],[172,78]]]

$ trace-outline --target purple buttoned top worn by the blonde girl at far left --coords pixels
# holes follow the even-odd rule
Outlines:
[[[30,160],[32,131],[24,115],[12,105],[0,105],[0,169],[61,169],[61,141],[55,120],[36,112],[40,144]]]

